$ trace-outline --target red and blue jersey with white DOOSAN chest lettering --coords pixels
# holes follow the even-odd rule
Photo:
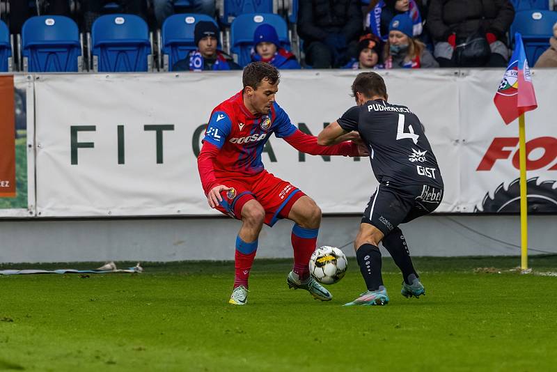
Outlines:
[[[213,109],[203,141],[220,149],[213,162],[215,176],[251,176],[264,169],[261,153],[271,134],[284,138],[296,130],[276,102],[268,115],[251,114],[240,91]]]

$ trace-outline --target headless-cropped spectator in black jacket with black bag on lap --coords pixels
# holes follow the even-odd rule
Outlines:
[[[431,0],[427,28],[434,56],[441,67],[506,67],[505,34],[514,18],[509,0]]]

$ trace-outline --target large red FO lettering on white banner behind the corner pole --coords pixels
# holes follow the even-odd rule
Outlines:
[[[508,160],[512,155],[512,166],[519,169],[518,137],[495,137],[489,145],[476,171],[491,171],[497,160]],[[542,155],[540,156],[540,150]],[[533,158],[535,151],[537,157]],[[557,138],[538,137],[526,142],[526,170],[535,171],[549,166],[557,171]]]

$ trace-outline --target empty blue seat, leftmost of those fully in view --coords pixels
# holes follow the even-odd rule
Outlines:
[[[31,17],[22,26],[23,70],[77,72],[81,41],[77,24],[63,15]]]

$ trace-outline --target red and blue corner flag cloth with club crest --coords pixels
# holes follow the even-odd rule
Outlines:
[[[515,51],[512,52],[493,102],[505,124],[514,121],[526,111],[538,108],[520,33],[515,33]]]

